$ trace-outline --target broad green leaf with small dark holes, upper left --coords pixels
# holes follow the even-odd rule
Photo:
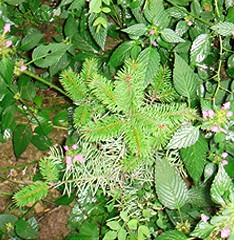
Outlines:
[[[62,43],[40,45],[34,49],[32,59],[38,67],[47,68],[59,62],[69,48],[70,45]]]

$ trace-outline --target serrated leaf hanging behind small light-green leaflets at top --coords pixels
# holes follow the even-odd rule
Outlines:
[[[99,23],[95,26],[95,21],[99,19]],[[100,22],[101,21],[101,22]],[[103,22],[104,21],[104,22]],[[105,27],[105,22],[107,24],[107,18],[105,14],[102,14],[100,19],[99,14],[92,13],[89,16],[89,30],[96,41],[96,43],[104,49],[107,36],[107,27]]]

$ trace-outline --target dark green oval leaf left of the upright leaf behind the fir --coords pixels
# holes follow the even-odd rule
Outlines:
[[[134,47],[134,41],[124,42],[120,44],[110,57],[109,65],[118,67],[126,58],[131,55],[131,50]]]

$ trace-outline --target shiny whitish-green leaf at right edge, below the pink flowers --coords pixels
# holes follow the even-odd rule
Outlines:
[[[224,205],[225,199],[223,198],[225,193],[230,191],[232,186],[232,180],[226,173],[222,164],[219,164],[218,173],[216,174],[214,181],[211,185],[210,193],[211,199],[218,204]]]

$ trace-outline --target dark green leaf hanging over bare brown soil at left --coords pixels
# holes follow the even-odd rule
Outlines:
[[[13,146],[17,159],[27,148],[31,138],[32,132],[28,125],[19,124],[16,126],[13,134]]]

